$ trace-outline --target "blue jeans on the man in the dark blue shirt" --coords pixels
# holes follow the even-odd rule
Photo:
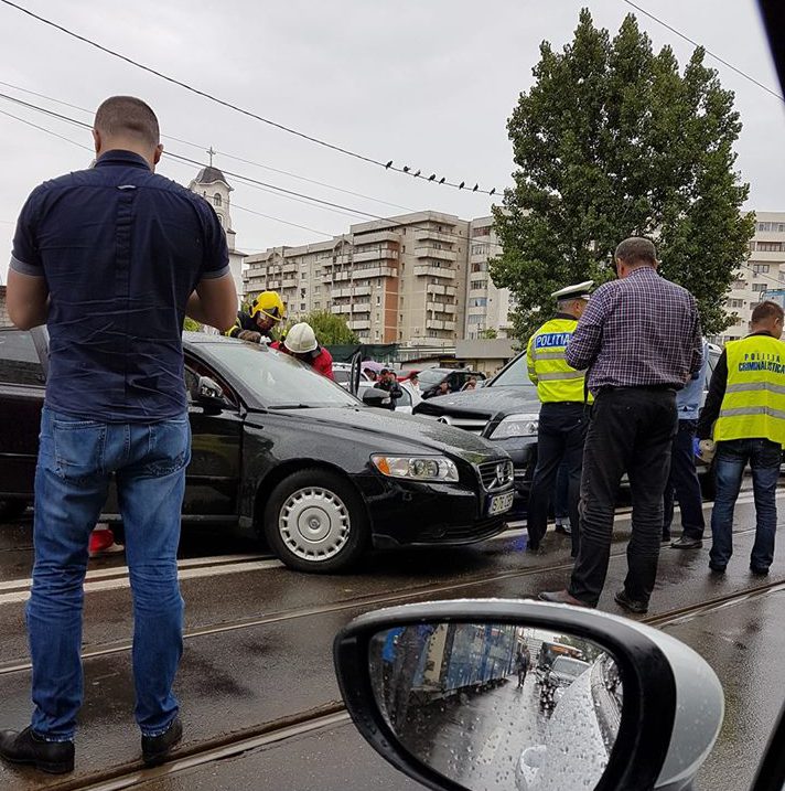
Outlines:
[[[74,738],[83,698],[83,582],[89,535],[115,473],[133,595],[136,718],[158,736],[178,714],[172,683],[182,655],[176,552],[187,415],[154,424],[103,424],[44,407],[35,470],[33,586],[26,607],[33,729]]]

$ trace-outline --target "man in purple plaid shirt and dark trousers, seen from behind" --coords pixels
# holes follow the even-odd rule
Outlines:
[[[546,601],[596,607],[607,574],[616,494],[624,473],[633,501],[628,571],[616,602],[646,612],[657,576],[663,493],[677,428],[676,391],[700,373],[695,297],[657,275],[654,244],[631,237],[615,252],[619,280],[592,296],[566,350],[589,368],[594,395],[581,479],[581,544],[567,590]]]

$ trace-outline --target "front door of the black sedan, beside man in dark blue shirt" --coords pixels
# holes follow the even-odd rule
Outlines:
[[[223,407],[203,404],[200,377],[223,391]],[[243,416],[236,393],[202,360],[185,357],[185,386],[191,419],[191,463],[185,472],[183,521],[235,521],[241,477]]]

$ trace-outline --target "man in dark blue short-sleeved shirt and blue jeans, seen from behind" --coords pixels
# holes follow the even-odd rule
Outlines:
[[[87,545],[112,473],[144,760],[162,761],[181,738],[176,548],[191,446],[181,329],[186,313],[224,329],[237,311],[215,213],[154,174],[163,149],[150,107],[107,99],[93,136],[95,168],[41,184],[24,204],[7,293],[17,327],[46,323],[50,367],[26,611],[35,710],[29,728],[0,733],[0,756],[49,772],[74,767]]]

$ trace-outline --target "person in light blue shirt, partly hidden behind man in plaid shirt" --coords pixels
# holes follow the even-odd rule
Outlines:
[[[663,543],[670,541],[674,495],[681,511],[681,535],[670,545],[675,549],[697,549],[703,545],[703,496],[695,469],[695,432],[709,370],[709,344],[703,342],[700,371],[676,394],[679,423],[670,448],[670,472],[663,502]]]

